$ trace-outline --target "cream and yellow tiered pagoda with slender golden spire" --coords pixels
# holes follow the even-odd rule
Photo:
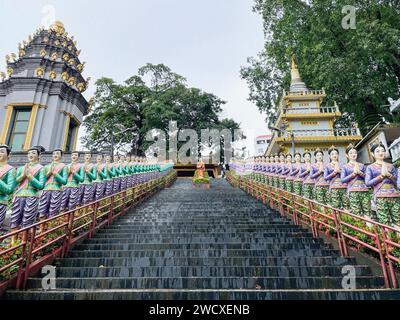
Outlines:
[[[278,152],[313,153],[317,148],[327,151],[335,145],[344,161],[346,146],[357,143],[362,136],[356,125],[351,128],[334,127],[341,113],[336,103],[333,106],[324,105],[325,98],[324,89],[307,88],[292,57],[290,89],[283,92],[266,155]]]

